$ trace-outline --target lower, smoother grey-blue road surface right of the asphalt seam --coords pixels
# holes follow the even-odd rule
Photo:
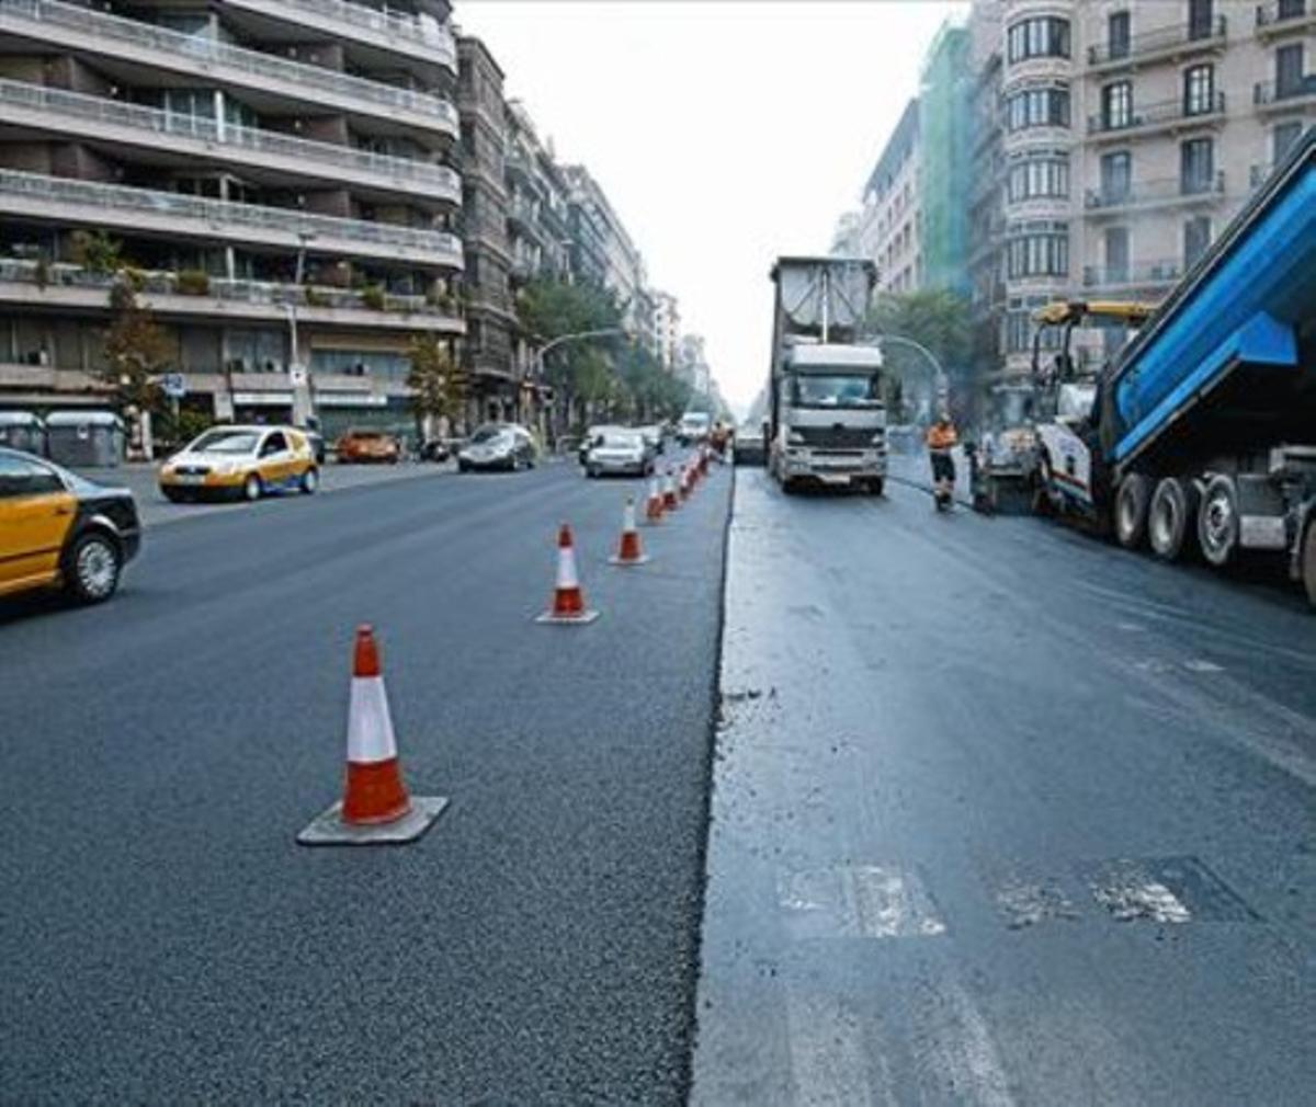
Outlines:
[[[1316,618],[738,475],[692,1102],[1305,1104]]]

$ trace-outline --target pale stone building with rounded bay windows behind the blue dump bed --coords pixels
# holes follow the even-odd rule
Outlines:
[[[1163,297],[1316,122],[1316,3],[978,0],[975,14],[996,33],[975,97],[1001,154],[979,199],[999,188],[1001,209],[975,212],[974,287],[1008,377],[1028,369],[1032,309]],[[992,270],[1003,294],[983,298]],[[1080,356],[1119,341],[1086,334]]]

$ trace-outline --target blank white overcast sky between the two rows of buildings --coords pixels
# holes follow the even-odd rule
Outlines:
[[[582,162],[738,409],[778,254],[825,252],[917,92],[942,0],[457,0],[559,160]]]

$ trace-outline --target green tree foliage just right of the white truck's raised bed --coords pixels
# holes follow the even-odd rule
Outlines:
[[[969,301],[942,288],[880,294],[869,314],[871,334],[911,338],[937,358],[946,371],[951,401],[963,400],[973,362],[973,326]],[[926,359],[915,350],[892,343],[886,348],[891,376],[887,402],[896,419],[903,418],[904,400],[929,392]],[[958,406],[958,405],[957,405]]]

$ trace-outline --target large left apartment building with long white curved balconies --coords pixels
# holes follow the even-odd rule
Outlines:
[[[408,425],[455,342],[442,0],[0,3],[0,404],[97,405],[125,267],[217,418]]]

